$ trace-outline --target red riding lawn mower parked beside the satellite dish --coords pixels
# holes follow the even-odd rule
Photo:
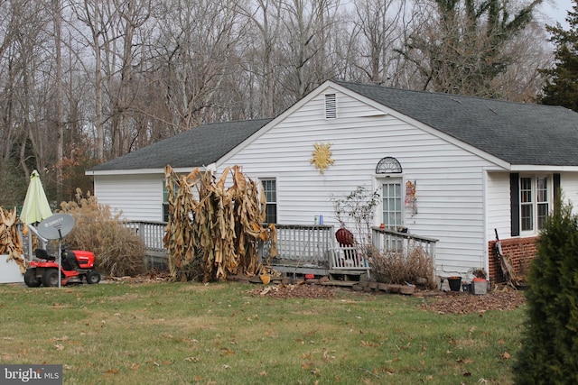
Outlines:
[[[100,273],[94,270],[94,252],[61,249],[61,266],[56,257],[46,250],[36,249],[37,260],[30,261],[30,267],[24,273],[24,282],[31,288],[61,286],[68,283],[89,284],[100,282]],[[59,274],[60,270],[60,274]]]

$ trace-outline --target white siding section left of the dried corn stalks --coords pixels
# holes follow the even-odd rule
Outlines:
[[[95,176],[98,203],[129,221],[163,220],[163,179],[161,174]]]

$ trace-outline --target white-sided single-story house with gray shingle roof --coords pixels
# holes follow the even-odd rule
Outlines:
[[[272,120],[206,124],[87,171],[100,203],[163,220],[163,168],[241,165],[267,221],[338,225],[331,197],[381,195],[374,225],[438,240],[438,274],[523,270],[556,194],[578,196],[578,114],[563,107],[327,81]]]

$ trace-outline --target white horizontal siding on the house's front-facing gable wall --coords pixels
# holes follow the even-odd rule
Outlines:
[[[412,217],[407,207],[406,225],[412,233],[440,240],[439,272],[464,273],[484,266],[483,170],[489,162],[336,94],[337,119],[324,119],[324,96],[316,96],[228,159],[227,165],[241,165],[251,178],[276,178],[280,224],[312,223],[314,215],[323,215],[326,225],[338,225],[331,197],[344,197],[358,186],[380,186],[374,178],[376,165],[383,157],[394,157],[403,167],[403,183],[416,182],[418,213]],[[334,164],[321,174],[310,160],[313,144],[327,142]]]

